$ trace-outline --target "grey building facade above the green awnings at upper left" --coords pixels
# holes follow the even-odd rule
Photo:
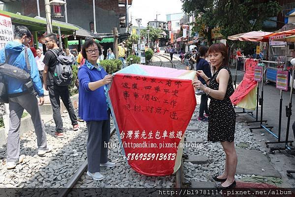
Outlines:
[[[21,15],[35,17],[38,16],[38,8],[36,0],[1,0],[0,8],[4,11],[17,13]],[[65,1],[65,0],[64,0]],[[93,1],[92,0],[67,0],[67,19],[68,23],[78,25],[89,31],[94,31],[93,20]],[[95,0],[96,14],[96,32],[110,33],[113,28],[117,28],[119,32],[125,32],[126,28],[122,25],[125,23],[126,8],[125,0]],[[128,4],[132,4],[132,0],[128,0]],[[39,0],[40,17],[45,18],[44,0]],[[64,6],[60,6],[61,13],[64,16]],[[53,16],[54,8],[51,6],[51,15]],[[65,22],[65,17],[52,18]],[[123,26],[123,27],[122,27]]]

